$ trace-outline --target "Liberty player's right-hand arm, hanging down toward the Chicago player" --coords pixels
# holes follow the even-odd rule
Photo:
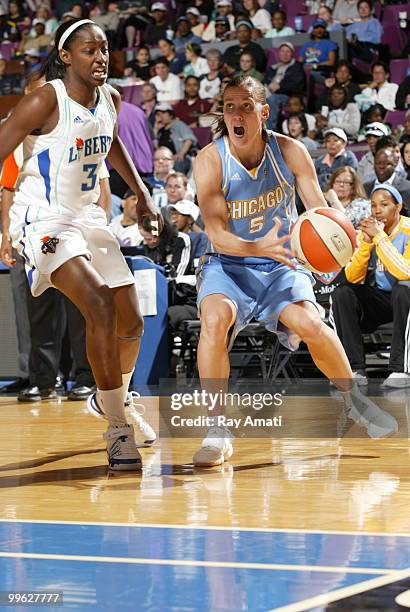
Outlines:
[[[118,113],[121,104],[121,97],[119,93],[112,88],[111,95]],[[132,191],[138,197],[138,223],[142,224],[143,218],[148,217],[154,223],[158,223],[159,231],[161,231],[164,223],[162,215],[155,208],[148,189],[142,182],[141,177],[128,154],[128,151],[124,147],[121,138],[118,136],[118,124],[115,126],[114,137],[107,158],[113,168],[127,183],[128,187],[132,189]]]

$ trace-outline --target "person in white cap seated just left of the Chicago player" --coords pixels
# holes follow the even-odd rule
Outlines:
[[[205,253],[208,245],[208,236],[196,223],[199,217],[199,207],[191,200],[179,200],[168,206],[171,222],[178,232],[188,234],[191,239],[192,258],[194,267],[198,259]]]

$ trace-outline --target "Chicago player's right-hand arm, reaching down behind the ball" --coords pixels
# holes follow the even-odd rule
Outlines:
[[[295,175],[296,188],[305,208],[327,206],[327,202],[317,180],[313,160],[306,147],[288,136],[276,135],[283,159]]]

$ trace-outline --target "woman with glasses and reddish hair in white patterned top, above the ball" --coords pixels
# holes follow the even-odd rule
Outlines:
[[[330,177],[324,193],[327,203],[342,211],[357,229],[362,219],[370,217],[370,200],[357,172],[341,166]]]

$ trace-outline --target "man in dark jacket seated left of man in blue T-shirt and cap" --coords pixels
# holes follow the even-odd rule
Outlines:
[[[266,72],[264,83],[271,95],[267,97],[269,104],[269,120],[267,125],[276,130],[279,111],[292,94],[303,94],[306,87],[303,65],[294,58],[295,48],[290,42],[283,42],[279,47],[279,62],[273,64]]]

